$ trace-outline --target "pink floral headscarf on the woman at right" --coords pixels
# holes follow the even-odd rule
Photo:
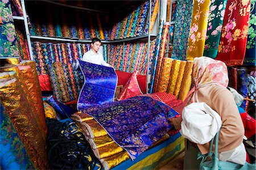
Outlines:
[[[229,83],[226,64],[209,57],[196,57],[194,59],[192,78],[195,86],[189,91],[187,98],[193,96],[191,102],[197,102],[197,90],[208,85],[216,84],[227,87]]]

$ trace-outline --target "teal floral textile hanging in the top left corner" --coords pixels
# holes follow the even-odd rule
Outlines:
[[[16,42],[16,32],[9,0],[1,0],[0,6],[0,16],[2,19],[0,26],[0,59],[11,57],[19,58],[19,49]]]

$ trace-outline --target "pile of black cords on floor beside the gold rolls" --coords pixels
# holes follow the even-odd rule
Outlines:
[[[74,122],[46,119],[51,169],[104,169]]]

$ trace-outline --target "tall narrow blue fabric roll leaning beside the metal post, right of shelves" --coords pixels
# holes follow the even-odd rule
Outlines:
[[[152,67],[151,67],[152,71],[151,71],[151,81],[150,81],[150,93],[152,93],[154,91],[153,88],[155,85],[156,65],[158,63],[160,43],[161,43],[161,38],[162,38],[162,34],[163,34],[163,25],[164,25],[164,20],[160,20],[159,28],[158,28],[158,36],[156,37],[154,59],[152,61]]]

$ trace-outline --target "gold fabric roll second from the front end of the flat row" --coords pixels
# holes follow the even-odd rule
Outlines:
[[[115,154],[118,154],[119,152],[122,152],[123,148],[119,147],[116,143],[110,143],[107,146],[100,147],[97,149],[94,149],[94,154],[98,159],[102,159],[104,157],[109,157]]]

